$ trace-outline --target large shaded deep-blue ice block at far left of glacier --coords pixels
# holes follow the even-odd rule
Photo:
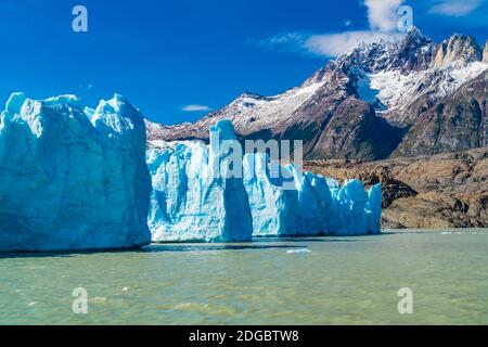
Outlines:
[[[0,116],[0,252],[147,244],[151,177],[142,115],[115,95],[14,93]]]

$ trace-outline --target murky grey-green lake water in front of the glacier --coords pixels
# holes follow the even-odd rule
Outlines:
[[[488,324],[488,230],[0,255],[0,324]]]

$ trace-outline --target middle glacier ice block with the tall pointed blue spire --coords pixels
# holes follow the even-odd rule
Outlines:
[[[229,140],[239,145],[232,124],[222,120],[210,127],[208,146],[194,141],[150,146],[153,241],[251,241],[253,222],[243,179],[216,175],[230,167],[229,153],[220,149]]]

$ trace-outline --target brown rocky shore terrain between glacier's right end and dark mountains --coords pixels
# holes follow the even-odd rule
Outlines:
[[[383,228],[487,228],[488,147],[360,163],[311,160],[305,169],[383,183]]]

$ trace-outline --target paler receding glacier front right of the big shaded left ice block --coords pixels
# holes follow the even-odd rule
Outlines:
[[[381,184],[367,191],[361,181],[348,180],[341,187],[334,179],[303,174],[295,164],[279,164],[281,174],[271,175],[265,153],[243,154],[242,175],[227,177],[217,170],[229,170],[235,163],[230,160],[229,146],[219,147],[230,140],[233,151],[242,154],[242,146],[230,120],[219,120],[209,131],[208,145],[150,143],[153,241],[240,242],[253,236],[381,232]]]

